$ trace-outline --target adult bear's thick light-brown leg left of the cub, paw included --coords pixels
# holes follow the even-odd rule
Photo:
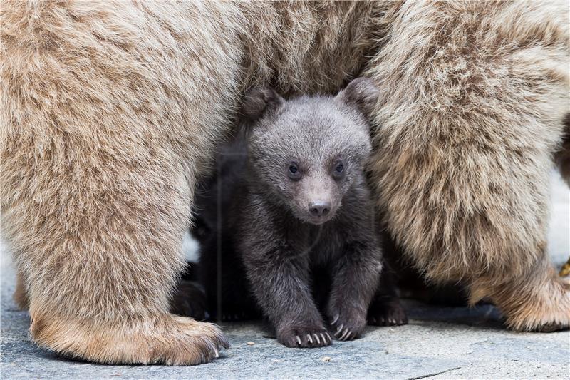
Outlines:
[[[100,363],[217,356],[217,327],[168,309],[195,178],[235,103],[231,4],[2,8],[1,230],[31,339]]]

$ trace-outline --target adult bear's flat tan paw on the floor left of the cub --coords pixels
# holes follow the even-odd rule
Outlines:
[[[105,324],[31,312],[31,320],[31,338],[38,345],[101,364],[202,364],[229,347],[215,324],[172,314]]]

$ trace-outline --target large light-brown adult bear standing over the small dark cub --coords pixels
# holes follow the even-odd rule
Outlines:
[[[435,282],[518,330],[568,327],[546,256],[569,112],[565,2],[0,5],[2,233],[31,338],[101,363],[197,364],[226,344],[168,313],[197,176],[254,84],[380,87],[372,183]]]

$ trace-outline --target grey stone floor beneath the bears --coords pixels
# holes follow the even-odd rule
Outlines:
[[[549,250],[570,254],[570,192],[553,176]],[[11,300],[14,271],[1,252],[2,379],[570,379],[570,332],[509,332],[497,309],[432,307],[407,301],[410,324],[368,328],[363,338],[321,349],[286,349],[260,323],[224,325],[232,347],[194,367],[102,366],[73,361],[29,342],[29,317]],[[253,342],[254,344],[248,344]]]

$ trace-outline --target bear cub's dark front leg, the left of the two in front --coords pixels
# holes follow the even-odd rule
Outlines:
[[[262,311],[287,347],[331,344],[311,296],[309,262],[286,247],[244,255],[247,277]]]

